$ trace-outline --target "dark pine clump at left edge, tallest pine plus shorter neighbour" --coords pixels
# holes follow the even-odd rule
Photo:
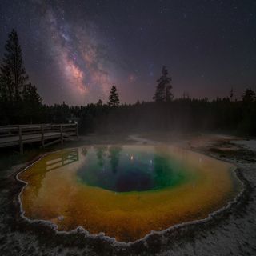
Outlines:
[[[0,66],[0,107],[5,122],[33,122],[42,105],[36,86],[32,86],[22,59],[18,34],[12,30],[6,41]]]

